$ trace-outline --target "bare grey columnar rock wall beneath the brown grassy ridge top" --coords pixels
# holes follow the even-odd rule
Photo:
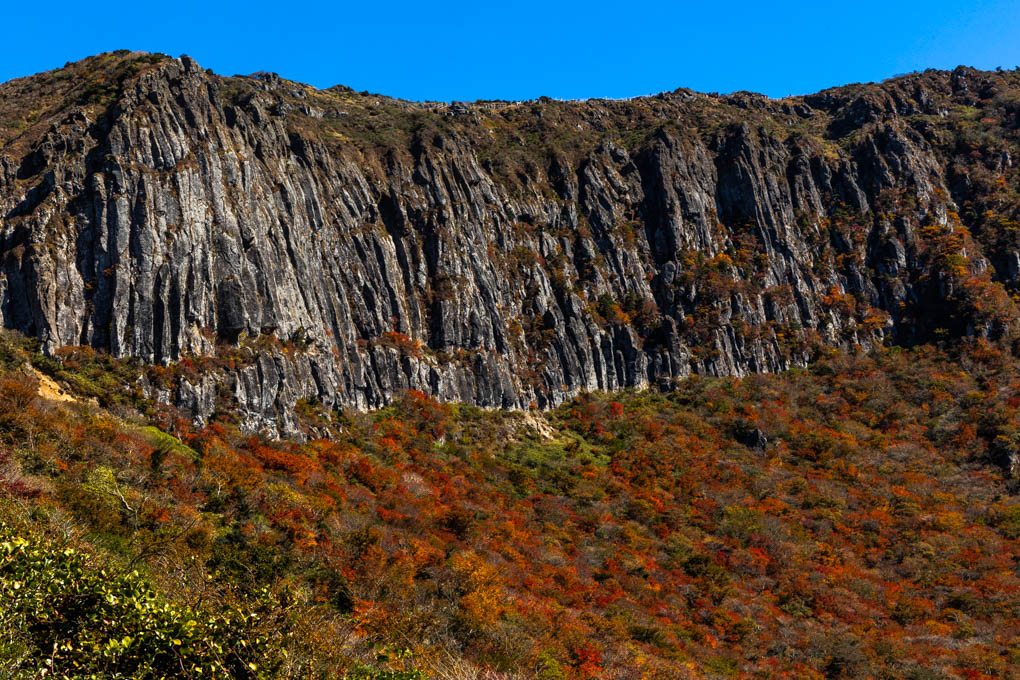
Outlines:
[[[4,325],[156,363],[293,342],[173,396],[207,417],[225,382],[253,429],[291,428],[309,396],[548,406],[803,364],[790,334],[807,331],[909,338],[902,310],[926,295],[917,229],[953,207],[944,160],[895,122],[835,150],[748,123],[662,126],[509,186],[470,137],[369,157],[296,133],[275,87],[235,104],[222,79],[169,60],[104,114],[74,109],[28,155],[0,152]],[[890,191],[912,205],[877,209]]]

